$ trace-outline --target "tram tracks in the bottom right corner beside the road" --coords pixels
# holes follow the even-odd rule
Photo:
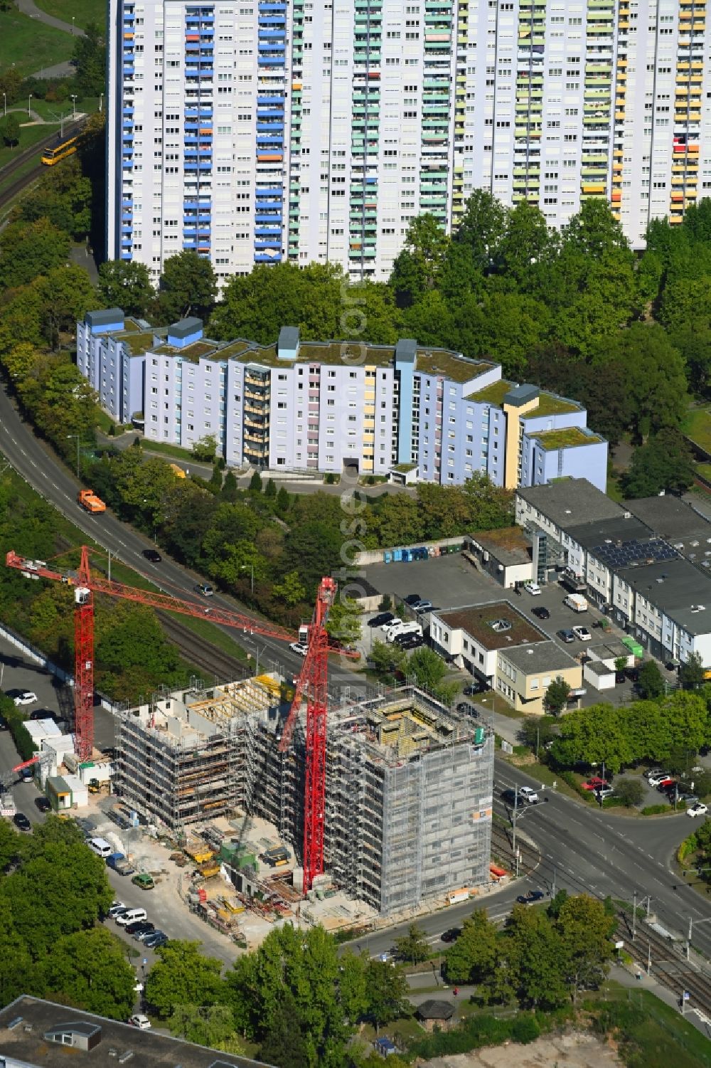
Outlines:
[[[633,939],[632,917],[620,911],[618,921],[618,934],[625,942],[625,952],[629,953],[641,970],[646,972],[649,969],[650,975],[679,998],[684,990],[688,991],[688,1007],[699,1009],[711,1017],[711,976],[693,961],[686,960],[685,940],[670,933],[665,938],[644,921],[637,923]]]

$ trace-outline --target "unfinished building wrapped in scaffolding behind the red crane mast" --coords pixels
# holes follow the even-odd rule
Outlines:
[[[260,676],[176,691],[116,717],[116,785],[173,832],[235,811],[303,838],[304,742],[278,748],[286,709]],[[493,734],[404,687],[328,722],[325,861],[388,915],[488,881]]]

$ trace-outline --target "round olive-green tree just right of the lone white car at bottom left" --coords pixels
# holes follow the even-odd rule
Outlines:
[[[145,980],[145,1000],[163,1019],[172,1015],[175,1005],[205,1007],[224,1001],[222,961],[205,957],[200,946],[200,942],[176,939],[158,949],[160,960]]]

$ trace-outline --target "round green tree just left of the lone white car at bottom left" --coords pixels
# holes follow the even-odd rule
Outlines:
[[[42,962],[45,996],[89,1012],[125,1020],[136,1001],[136,974],[121,939],[106,927],[77,931],[57,941]]]

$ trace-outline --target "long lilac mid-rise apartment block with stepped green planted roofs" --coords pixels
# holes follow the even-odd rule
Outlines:
[[[604,486],[607,443],[582,405],[516,387],[500,364],[396,345],[209,341],[198,319],[160,329],[113,310],[77,324],[77,365],[117,422],[190,449],[214,436],[231,466],[389,475],[512,489],[586,473]],[[107,321],[112,319],[112,321]]]

